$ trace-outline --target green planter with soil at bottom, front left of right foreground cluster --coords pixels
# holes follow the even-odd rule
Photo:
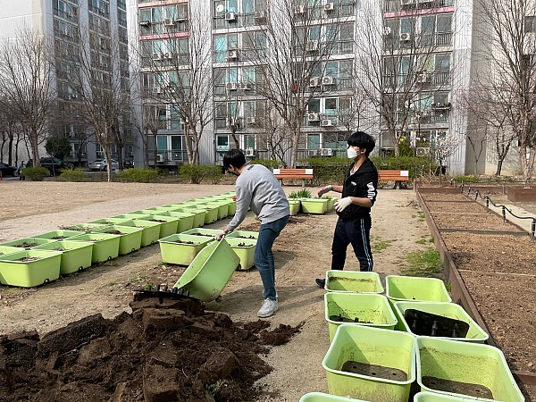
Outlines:
[[[370,375],[343,371],[347,362],[368,367],[364,372]],[[330,394],[372,402],[406,402],[415,381],[415,338],[406,332],[342,324],[322,367]]]

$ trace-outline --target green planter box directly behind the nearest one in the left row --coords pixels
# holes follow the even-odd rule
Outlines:
[[[53,250],[62,254],[60,273],[68,275],[91,266],[93,243],[90,241],[60,240],[33,247],[32,250]]]

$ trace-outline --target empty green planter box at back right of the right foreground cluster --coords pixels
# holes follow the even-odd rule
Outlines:
[[[391,306],[397,301],[452,301],[445,283],[436,278],[388,275],[385,277],[385,295]]]

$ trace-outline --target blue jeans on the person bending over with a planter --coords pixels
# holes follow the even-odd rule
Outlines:
[[[275,300],[275,264],[273,262],[272,246],[281,230],[289,222],[289,215],[283,216],[277,221],[264,223],[259,230],[259,239],[255,247],[253,261],[261,275],[264,286],[264,298]]]

